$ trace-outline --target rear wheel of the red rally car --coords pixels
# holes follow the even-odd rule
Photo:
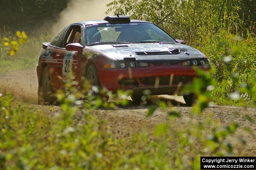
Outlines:
[[[41,86],[38,87],[39,104],[53,104],[56,101],[48,66],[44,68],[41,79]]]

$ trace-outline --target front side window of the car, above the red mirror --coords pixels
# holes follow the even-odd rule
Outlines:
[[[78,42],[81,44],[81,26],[74,25],[71,26],[69,31],[67,32],[65,39],[65,46],[70,43]]]

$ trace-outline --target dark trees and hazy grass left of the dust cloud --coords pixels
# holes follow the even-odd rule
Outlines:
[[[42,42],[50,42],[52,24],[69,0],[5,1],[0,6],[0,73],[36,67]],[[27,41],[20,45],[19,53],[8,56],[4,38],[17,40],[16,31],[25,31]],[[52,33],[52,32],[50,32]],[[14,36],[15,35],[15,36]]]

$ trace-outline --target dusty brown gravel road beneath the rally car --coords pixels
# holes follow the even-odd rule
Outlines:
[[[22,70],[11,73],[0,74],[0,93],[11,92],[15,96],[15,101],[30,101],[36,110],[44,111],[44,113],[53,115],[61,112],[60,107],[37,105],[37,76],[36,69]],[[184,102],[183,97],[162,96],[165,100],[173,99]],[[110,99],[111,101],[111,99]],[[181,104],[182,105],[182,104]],[[153,131],[156,125],[166,122],[168,116],[166,111],[158,109],[152,116],[145,117],[149,106],[123,107],[120,110],[104,110],[98,109],[93,112],[95,116],[107,121],[111,129],[111,134],[115,138],[123,138],[130,134],[145,131]],[[180,124],[186,124],[189,119],[191,107],[175,106],[174,109],[182,115],[177,121]],[[222,125],[229,125],[232,122],[238,123],[240,126],[236,131],[237,138],[244,138],[246,144],[242,146],[235,141],[237,148],[243,156],[256,155],[256,108],[252,107],[230,107],[214,105],[204,110],[205,113],[211,113],[214,119],[218,119]],[[79,113],[82,113],[80,110]],[[78,114],[79,114],[78,113]],[[249,128],[251,133],[245,132],[245,128]],[[231,139],[235,140],[235,138]]]

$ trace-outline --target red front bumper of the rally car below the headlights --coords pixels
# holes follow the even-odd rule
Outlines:
[[[204,69],[203,66],[198,66]],[[207,70],[207,69],[204,69]],[[190,76],[191,79],[186,83],[165,84],[165,85],[149,85],[143,84],[141,78],[147,77],[163,77],[163,76]],[[142,91],[149,89],[152,95],[160,94],[173,94],[179,88],[183,88],[185,85],[191,84],[192,80],[197,76],[192,66],[183,66],[181,63],[177,65],[161,64],[153,65],[149,64],[148,67],[133,67],[133,68],[120,68],[120,69],[98,69],[98,77],[102,87],[107,88],[110,91],[117,91],[117,89],[133,89],[134,93],[142,93]],[[122,86],[119,81],[121,79],[136,79],[138,85]]]

